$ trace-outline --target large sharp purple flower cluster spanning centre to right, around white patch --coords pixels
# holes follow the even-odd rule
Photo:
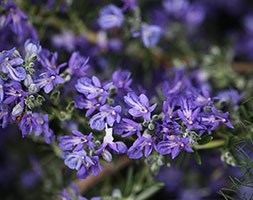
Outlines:
[[[146,94],[131,87],[128,71],[115,71],[112,82],[101,82],[95,76],[80,77],[75,85],[79,92],[75,105],[86,110],[91,129],[105,130],[105,136],[98,145],[92,142],[92,134],[85,136],[73,131],[74,136],[61,136],[62,150],[75,147],[71,153],[63,154],[65,164],[78,170],[78,177],[87,177],[100,169],[99,155],[111,162],[111,153],[127,153],[129,158],[139,159],[156,151],[161,155],[171,154],[174,159],[181,151],[193,152],[198,139],[211,134],[220,124],[233,128],[228,113],[215,106],[215,102],[223,101],[219,98],[221,95],[211,96],[207,82],[194,73],[189,75],[184,68],[175,69],[174,74],[161,83],[162,94],[156,97],[160,100],[154,104]],[[122,136],[122,141],[114,141],[117,135]],[[131,144],[129,141],[133,139]],[[87,156],[93,154],[96,162],[94,156]],[[81,169],[85,176],[80,175],[84,173]]]

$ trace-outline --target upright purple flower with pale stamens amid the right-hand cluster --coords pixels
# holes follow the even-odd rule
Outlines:
[[[197,120],[199,112],[200,108],[195,108],[190,99],[181,100],[181,109],[178,110],[178,116],[186,124],[188,129],[191,129],[192,127],[198,127],[195,121]]]

